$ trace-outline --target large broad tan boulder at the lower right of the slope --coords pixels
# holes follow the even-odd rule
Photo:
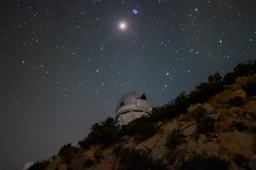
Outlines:
[[[255,154],[255,135],[244,134],[239,131],[234,131],[220,135],[218,143],[220,147],[245,156],[245,159],[250,158]]]

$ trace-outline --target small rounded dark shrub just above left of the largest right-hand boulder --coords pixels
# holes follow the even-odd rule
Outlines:
[[[201,119],[197,124],[197,133],[206,134],[212,130],[214,130],[214,119],[210,116]]]

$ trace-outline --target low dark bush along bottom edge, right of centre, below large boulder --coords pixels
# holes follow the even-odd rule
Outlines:
[[[182,170],[228,170],[229,162],[217,156],[196,155],[182,164]]]

